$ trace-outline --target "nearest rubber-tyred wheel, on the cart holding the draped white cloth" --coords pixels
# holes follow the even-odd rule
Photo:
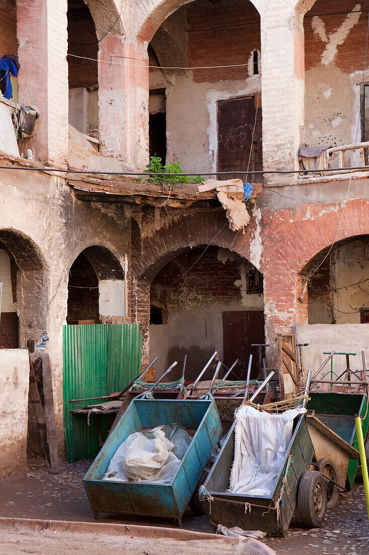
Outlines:
[[[298,506],[305,526],[318,528],[322,525],[327,511],[327,488],[320,472],[308,470],[301,478]]]

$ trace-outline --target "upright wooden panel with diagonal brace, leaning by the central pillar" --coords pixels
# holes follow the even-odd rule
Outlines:
[[[284,400],[299,393],[296,337],[278,334],[277,348],[280,398]]]

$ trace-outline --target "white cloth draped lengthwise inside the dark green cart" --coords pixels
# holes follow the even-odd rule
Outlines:
[[[304,408],[294,408],[269,414],[249,405],[239,408],[230,492],[269,498],[273,495],[293,435],[294,418],[304,412]]]

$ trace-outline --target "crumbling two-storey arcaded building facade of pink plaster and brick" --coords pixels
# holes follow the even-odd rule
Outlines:
[[[306,143],[333,149],[331,168],[367,165],[367,2],[0,9],[0,54],[20,64],[12,102],[39,114],[19,155],[5,139],[0,153],[0,470],[24,462],[24,426],[4,403],[27,411],[28,358],[16,349],[43,330],[60,452],[64,325],[139,323],[142,364],[161,351],[157,372],[185,352],[190,369],[214,349],[229,361],[234,337],[240,350],[269,344],[269,367],[277,333],[309,343],[307,365],[367,348],[368,171],[307,173],[299,160]],[[229,229],[216,194],[196,184],[127,175],[150,154],[205,179],[247,179],[249,224]],[[237,174],[247,171],[260,173]]]

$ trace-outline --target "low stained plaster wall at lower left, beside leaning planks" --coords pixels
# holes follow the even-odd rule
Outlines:
[[[28,351],[0,349],[0,475],[27,468],[28,384]]]

